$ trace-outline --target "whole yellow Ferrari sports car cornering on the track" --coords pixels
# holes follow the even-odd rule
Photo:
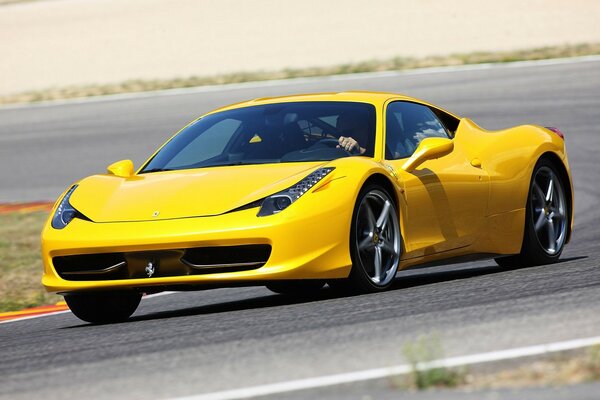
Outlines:
[[[42,232],[43,284],[93,323],[163,290],[375,292],[446,259],[554,262],[572,216],[556,128],[487,131],[392,93],[263,98],[68,188]]]

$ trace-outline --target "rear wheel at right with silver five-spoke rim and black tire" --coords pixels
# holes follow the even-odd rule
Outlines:
[[[564,182],[563,175],[553,162],[546,158],[537,162],[529,184],[521,252],[496,258],[499,266],[517,268],[558,261],[571,222],[571,204],[567,198],[566,185],[569,182]],[[541,186],[548,188],[545,193],[540,193]]]

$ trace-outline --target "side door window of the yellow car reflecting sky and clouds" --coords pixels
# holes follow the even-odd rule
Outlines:
[[[425,138],[449,137],[429,107],[406,101],[388,105],[385,131],[385,158],[388,160],[410,157]]]

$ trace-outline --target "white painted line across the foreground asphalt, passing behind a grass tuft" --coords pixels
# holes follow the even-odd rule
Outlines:
[[[417,368],[427,370],[439,367],[460,367],[470,364],[486,363],[492,361],[509,360],[519,357],[535,356],[565,350],[574,350],[583,347],[599,345],[600,336],[554,342],[542,345],[517,347],[508,350],[491,351],[488,353],[471,354],[420,363]],[[348,372],[344,374],[325,375],[314,378],[298,379],[268,385],[251,386],[241,389],[225,390],[186,397],[177,397],[172,400],[233,400],[249,397],[266,396],[277,393],[293,392],[304,389],[314,389],[325,386],[334,386],[344,383],[361,382],[372,379],[381,379],[394,375],[405,375],[412,371],[408,364],[395,365],[388,368],[375,368],[363,371]]]

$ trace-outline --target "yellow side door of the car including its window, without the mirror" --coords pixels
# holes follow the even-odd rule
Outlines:
[[[404,189],[404,258],[469,246],[485,221],[489,176],[469,157],[467,144],[453,138],[428,106],[394,101],[385,111],[385,162]],[[428,137],[451,138],[452,152],[427,160],[410,173],[404,171],[404,162]]]

